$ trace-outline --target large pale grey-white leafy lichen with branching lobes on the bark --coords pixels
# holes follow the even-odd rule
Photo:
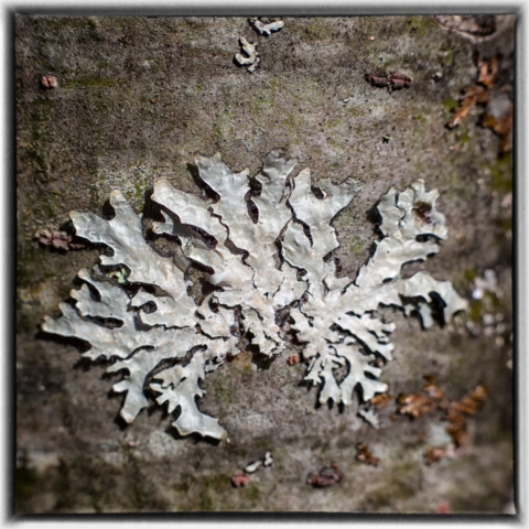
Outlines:
[[[118,282],[98,267],[83,269],[78,276],[85,284],[71,293],[75,306],[62,304],[63,316],[46,317],[43,330],[85,339],[91,345],[85,357],[114,361],[109,373],[128,371],[114,386],[127,393],[120,412],[127,422],[148,406],[149,388],[159,393],[159,404],[180,410],[173,425],[181,435],[224,439],[218,421],[197,408],[204,395],[199,381],[245,344],[264,357],[280,355],[288,346],[289,314],[290,332],[311,360],[305,380],[322,386],[320,401],[349,404],[356,386],[369,400],[387,390],[375,379],[381,369],[374,361],[390,360],[393,349],[388,334],[395,324],[375,315],[380,304],[406,313],[415,306],[424,326],[438,298],[446,320],[466,307],[449,281],[427,272],[400,276],[406,262],[435,253],[447,233],[435,208],[438,193],[425,192],[422,181],[382,196],[385,238],[353,280],[338,279],[326,258],[338,247],[331,222],[359,191],[358,182],[326,182],[314,190],[309,169],[293,177],[295,160],[281,150],[266,156],[253,179],[247,170],[233,173],[218,153],[197,156],[196,164],[217,201],[177,191],[166,180],[154,182],[151,198],[164,220],[152,224],[152,235],[176,239],[174,257],[152,249],[141,215],[117,190],[110,194],[111,220],[71,213],[78,237],[114,251],[100,256],[104,269],[129,273]],[[208,284],[203,300],[188,289],[190,267],[198,267]],[[344,365],[348,373],[338,384],[334,370]]]

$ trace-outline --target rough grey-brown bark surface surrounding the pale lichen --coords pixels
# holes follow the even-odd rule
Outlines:
[[[476,42],[432,17],[283,20],[266,36],[244,18],[15,17],[17,512],[509,509],[511,156],[478,125],[483,107],[454,130],[445,123],[477,79],[476,53],[499,55],[493,94],[508,93],[514,18],[497,18],[496,31]],[[234,62],[240,36],[258,43],[261,63],[251,74]],[[366,82],[380,71],[413,83],[390,93]],[[43,88],[43,75],[58,87]],[[83,344],[39,331],[99,249],[43,247],[33,239],[37,228],[60,228],[72,209],[104,213],[114,188],[140,212],[161,176],[197,192],[188,165],[195,153],[220,151],[233,170],[256,174],[278,147],[315,181],[364,182],[334,222],[344,274],[356,274],[380,237],[374,206],[390,185],[403,190],[421,177],[440,191],[450,236],[425,269],[452,280],[472,310],[456,325],[423,331],[418,319],[386,309],[397,349],[381,379],[397,396],[420,392],[430,373],[450,399],[488,385],[456,456],[430,466],[423,460],[429,435],[446,425],[441,412],[390,420],[393,401],[380,411],[385,428],[374,430],[357,403],[317,407],[316,389],[300,385],[304,365],[285,356],[257,367],[241,354],[206,378],[201,408],[219,418],[229,443],[176,439],[158,407],[125,428],[122,396],[109,392],[119,375],[110,380],[105,366],[79,361]],[[471,295],[486,269],[498,277],[500,336],[484,331],[488,309]],[[359,442],[380,457],[377,467],[355,460]],[[273,466],[233,488],[230,476],[267,451]],[[332,461],[341,483],[306,484]]]

